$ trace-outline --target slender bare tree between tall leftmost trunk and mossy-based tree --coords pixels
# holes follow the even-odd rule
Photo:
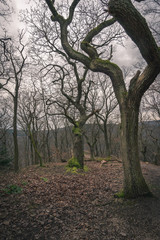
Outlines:
[[[33,83],[34,84],[34,83]],[[19,101],[19,124],[30,140],[31,164],[39,163],[43,166],[41,152],[43,148],[43,119],[44,112],[41,105],[40,94],[35,85],[31,90],[22,92]],[[43,150],[42,150],[43,149]],[[42,151],[41,151],[42,150]]]

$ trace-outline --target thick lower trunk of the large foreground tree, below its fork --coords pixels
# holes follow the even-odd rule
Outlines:
[[[121,154],[124,168],[124,196],[126,198],[150,194],[139,161],[138,113],[139,105],[133,103],[121,108]]]

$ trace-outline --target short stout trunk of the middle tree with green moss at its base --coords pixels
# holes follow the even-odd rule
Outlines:
[[[78,160],[80,167],[84,167],[84,143],[83,136],[80,134],[74,135],[74,146],[73,146],[74,157]]]

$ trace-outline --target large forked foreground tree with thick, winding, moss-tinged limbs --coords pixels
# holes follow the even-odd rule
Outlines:
[[[73,0],[68,17],[58,13],[54,1],[45,0],[51,13],[51,20],[60,26],[61,44],[72,59],[83,63],[94,72],[107,74],[114,88],[121,113],[121,154],[124,168],[124,196],[128,198],[150,194],[150,190],[142,175],[138,155],[138,115],[141,98],[160,72],[160,50],[152,36],[145,18],[137,11],[131,0],[110,0],[108,12],[113,16],[91,29],[81,42],[84,53],[74,50],[68,41],[68,27],[71,24],[77,5],[80,0]],[[140,2],[140,0],[137,0]],[[104,3],[107,1],[103,1]],[[115,20],[124,28],[127,35],[140,50],[147,65],[130,80],[127,89],[122,70],[110,60],[103,60],[93,45],[94,37],[104,28],[115,23]],[[81,23],[80,23],[81,24]]]

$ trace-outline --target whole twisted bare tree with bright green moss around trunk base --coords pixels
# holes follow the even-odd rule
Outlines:
[[[57,89],[56,97],[51,96],[47,105],[51,106],[52,104],[56,105],[56,111],[52,115],[61,115],[65,116],[68,121],[74,126],[74,146],[73,153],[74,157],[79,161],[81,168],[84,166],[84,143],[83,143],[83,126],[86,121],[96,113],[96,109],[92,108],[90,111],[87,107],[88,103],[88,94],[92,85],[92,81],[89,79],[86,84],[87,69],[77,68],[76,63],[71,62],[72,71],[68,70],[65,67],[58,65],[53,66],[58,74],[59,78],[54,76],[54,86],[55,83],[60,84]],[[74,75],[73,75],[74,73]],[[92,78],[91,78],[92,79]],[[59,89],[59,91],[58,91]],[[54,92],[52,90],[52,92]]]

